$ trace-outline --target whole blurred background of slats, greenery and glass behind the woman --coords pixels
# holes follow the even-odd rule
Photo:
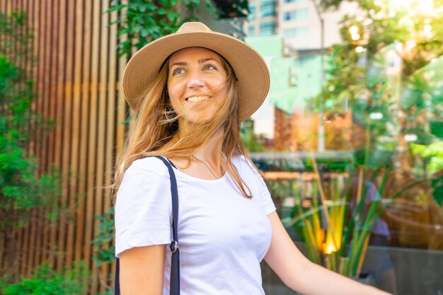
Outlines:
[[[443,0],[0,0],[0,295],[113,294],[122,71],[185,21],[265,58],[241,132],[299,248],[443,294]]]

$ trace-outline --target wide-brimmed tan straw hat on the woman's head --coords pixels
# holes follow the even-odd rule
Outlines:
[[[163,62],[173,52],[187,47],[205,47],[222,55],[238,79],[240,120],[260,108],[269,91],[270,76],[263,57],[245,42],[213,32],[205,24],[184,23],[177,33],[150,42],[128,62],[123,73],[123,91],[130,107],[139,110],[144,93],[151,86]]]

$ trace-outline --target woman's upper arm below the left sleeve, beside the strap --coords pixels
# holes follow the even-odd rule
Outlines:
[[[122,295],[163,294],[166,245],[151,245],[120,254],[120,293]]]

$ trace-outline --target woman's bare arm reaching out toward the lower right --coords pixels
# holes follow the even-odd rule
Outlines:
[[[272,240],[265,261],[287,287],[304,295],[388,295],[309,261],[299,251],[277,212],[268,215]]]

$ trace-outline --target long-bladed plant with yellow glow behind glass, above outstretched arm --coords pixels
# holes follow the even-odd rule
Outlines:
[[[326,191],[315,158],[313,162],[313,197],[309,205],[303,204],[300,197],[295,198],[291,224],[305,241],[311,261],[347,277],[358,278],[376,220],[394,199],[427,180],[415,181],[393,195],[384,196],[391,169],[379,167],[369,173],[365,166],[358,166],[347,171],[347,178],[341,175],[331,179]],[[381,183],[376,189],[373,183],[379,176]]]

